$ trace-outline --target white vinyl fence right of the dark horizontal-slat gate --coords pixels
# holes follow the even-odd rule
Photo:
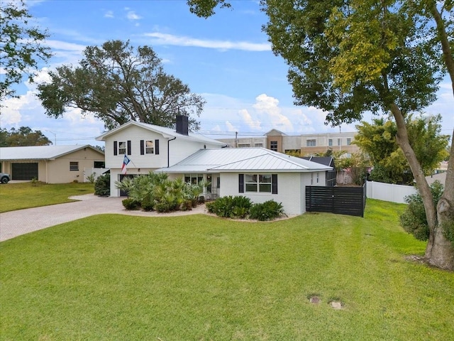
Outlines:
[[[404,204],[406,195],[416,194],[413,186],[393,185],[392,183],[376,183],[367,181],[366,195],[371,199],[378,199]]]

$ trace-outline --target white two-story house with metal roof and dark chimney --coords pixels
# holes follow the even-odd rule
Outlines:
[[[197,184],[207,180],[207,198],[244,195],[252,202],[281,202],[289,215],[306,211],[305,188],[324,186],[333,168],[262,147],[225,148],[223,142],[188,133],[187,117],[177,117],[175,130],[128,122],[97,138],[106,142],[106,168],[111,169],[111,196],[125,195],[115,182],[124,176],[167,173]],[[131,160],[121,173],[124,156]]]

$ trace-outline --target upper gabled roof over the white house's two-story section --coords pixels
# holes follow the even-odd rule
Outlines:
[[[204,144],[214,144],[215,146],[226,146],[226,144],[224,144],[221,141],[209,139],[209,138],[199,135],[199,134],[189,133],[188,135],[183,135],[183,134],[177,133],[177,131],[175,129],[170,129],[165,126],[156,126],[155,124],[148,124],[148,123],[142,123],[142,122],[136,122],[136,121],[129,121],[126,124],[123,124],[121,126],[118,126],[115,129],[107,131],[106,133],[102,134],[101,136],[96,137],[96,140],[97,141],[106,141],[107,137],[118,133],[118,131],[128,129],[129,126],[140,126],[143,129],[147,129],[147,130],[153,131],[157,134],[161,134],[162,136],[164,136],[167,139],[176,137],[177,139],[184,139],[187,141],[196,141],[196,142],[201,142]]]

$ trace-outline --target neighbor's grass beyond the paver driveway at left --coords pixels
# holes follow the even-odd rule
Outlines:
[[[0,212],[72,202],[68,197],[89,193],[92,183],[8,183],[0,185]]]

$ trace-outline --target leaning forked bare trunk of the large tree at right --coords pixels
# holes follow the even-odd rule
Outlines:
[[[409,161],[411,172],[416,180],[419,193],[423,200],[424,210],[429,228],[429,238],[426,247],[425,258],[428,264],[441,269],[454,270],[454,247],[453,243],[445,237],[443,227],[454,223],[453,197],[454,197],[454,174],[452,171],[453,146],[451,145],[450,162],[448,163],[448,173],[446,176],[446,187],[438,202],[438,207],[433,205],[431,188],[421,169],[421,164],[416,158],[413,148],[409,143],[406,131],[405,119],[396,104],[391,104],[391,112],[397,124],[397,144],[404,151],[406,160]],[[448,186],[450,186],[448,188]],[[438,209],[438,212],[437,212]]]

